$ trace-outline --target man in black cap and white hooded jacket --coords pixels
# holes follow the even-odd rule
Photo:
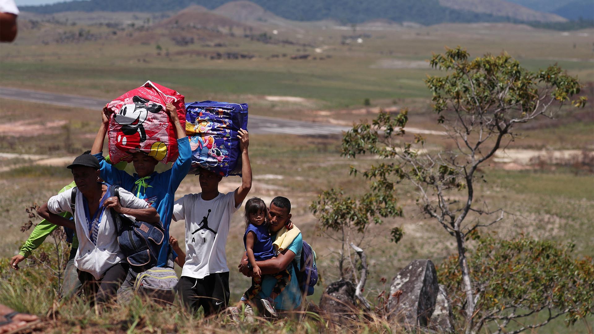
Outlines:
[[[71,204],[75,188],[72,188],[50,198],[37,213],[51,223],[75,229],[78,251],[74,264],[78,279],[87,296],[94,297],[96,303],[107,303],[128,272],[109,210],[149,223],[159,222],[159,214],[146,201],[124,189],[119,189],[119,198],[109,197],[109,187],[113,186],[100,182],[97,157],[77,156],[68,168],[78,189],[74,210]],[[70,212],[74,222],[58,215],[62,212]]]

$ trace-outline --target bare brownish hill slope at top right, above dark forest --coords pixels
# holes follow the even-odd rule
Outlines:
[[[594,0],[591,0],[594,1]],[[594,3],[594,2],[593,2]],[[564,22],[566,18],[557,14],[531,10],[522,5],[504,0],[440,0],[444,7],[456,10],[482,12],[502,17],[516,18],[522,21]]]

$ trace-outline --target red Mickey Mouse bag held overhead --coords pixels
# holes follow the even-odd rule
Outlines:
[[[132,161],[131,153],[144,152],[163,163],[178,158],[175,127],[165,112],[172,103],[185,128],[184,96],[175,90],[147,81],[109,102],[109,158],[112,163]]]

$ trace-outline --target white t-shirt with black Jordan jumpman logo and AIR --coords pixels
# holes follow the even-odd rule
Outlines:
[[[235,206],[235,191],[205,201],[200,194],[187,194],[173,205],[173,220],[185,219],[186,261],[182,276],[204,278],[228,272],[225,245]]]

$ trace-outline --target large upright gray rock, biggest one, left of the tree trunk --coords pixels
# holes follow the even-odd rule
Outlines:
[[[399,294],[397,291],[402,291]],[[428,327],[439,292],[431,260],[414,260],[400,270],[390,285],[388,320],[400,326]]]

